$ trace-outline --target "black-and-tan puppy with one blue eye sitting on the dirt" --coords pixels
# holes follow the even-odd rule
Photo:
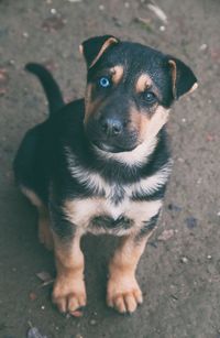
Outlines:
[[[156,227],[172,170],[166,122],[172,103],[197,87],[179,59],[105,35],[80,46],[85,99],[65,105],[52,75],[29,64],[46,92],[48,119],[25,134],[15,179],[38,210],[38,237],[54,247],[53,302],[62,313],[86,305],[87,233],[120,237],[110,260],[107,304],[132,313],[142,303],[135,269]]]

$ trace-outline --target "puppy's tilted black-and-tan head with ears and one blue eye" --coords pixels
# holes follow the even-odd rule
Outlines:
[[[180,61],[136,43],[98,36],[81,45],[88,75],[85,132],[106,152],[128,152],[167,120],[173,101],[196,87]]]

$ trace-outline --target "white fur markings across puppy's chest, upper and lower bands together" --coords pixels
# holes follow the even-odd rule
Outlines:
[[[140,179],[139,183],[119,186],[117,184],[110,185],[98,173],[85,170],[77,164],[74,154],[69,150],[66,151],[68,151],[68,170],[72,176],[95,194],[94,197],[89,198],[66,200],[64,211],[70,222],[92,233],[114,233],[112,229],[91,227],[92,219],[99,216],[108,217],[112,220],[125,217],[134,226],[130,230],[118,229],[117,235],[124,235],[128,231],[139,229],[143,222],[150,220],[161,209],[162,200],[134,201],[131,197],[136,194],[153,194],[163,186],[169,176],[172,162],[168,162],[154,175]],[[123,198],[116,204],[113,199],[119,190],[123,193]],[[101,197],[97,197],[96,195],[98,194]]]

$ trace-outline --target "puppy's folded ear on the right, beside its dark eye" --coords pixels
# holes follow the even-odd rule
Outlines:
[[[170,56],[168,64],[172,72],[172,88],[175,100],[184,94],[193,92],[198,87],[196,76],[180,59]]]

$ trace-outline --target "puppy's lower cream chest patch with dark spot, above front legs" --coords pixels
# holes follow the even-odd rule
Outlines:
[[[68,219],[85,231],[127,235],[141,228],[158,212],[161,201],[134,201],[121,186],[111,186],[103,197],[73,199],[65,203]]]

